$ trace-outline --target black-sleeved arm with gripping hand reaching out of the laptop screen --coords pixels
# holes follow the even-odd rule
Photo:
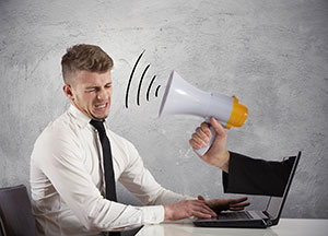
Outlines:
[[[282,197],[295,156],[282,162],[250,158],[226,151],[226,132],[213,117],[210,120],[216,135],[209,151],[200,156],[223,172],[224,192]],[[211,137],[209,123],[203,122],[189,140],[194,149],[207,146]]]

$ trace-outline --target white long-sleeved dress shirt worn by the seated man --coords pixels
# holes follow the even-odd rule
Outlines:
[[[102,144],[90,120],[71,105],[35,142],[31,190],[39,235],[98,235],[117,227],[156,224],[164,221],[162,204],[190,199],[161,187],[136,148],[106,125],[115,180],[152,206],[105,199]]]

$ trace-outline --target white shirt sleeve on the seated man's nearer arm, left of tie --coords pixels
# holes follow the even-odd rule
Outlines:
[[[36,164],[58,194],[85,227],[110,231],[164,221],[164,208],[131,206],[104,199],[81,160],[79,142],[62,132],[51,132],[36,143]]]

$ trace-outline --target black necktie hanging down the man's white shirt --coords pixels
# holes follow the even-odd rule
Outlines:
[[[91,120],[90,123],[98,131],[99,140],[103,148],[106,199],[110,201],[117,201],[110,143],[106,134],[104,121]]]

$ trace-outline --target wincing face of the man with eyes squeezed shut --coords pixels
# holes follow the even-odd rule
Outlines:
[[[70,90],[71,103],[91,119],[103,120],[108,116],[113,91],[110,70],[104,73],[78,71],[63,90]]]

